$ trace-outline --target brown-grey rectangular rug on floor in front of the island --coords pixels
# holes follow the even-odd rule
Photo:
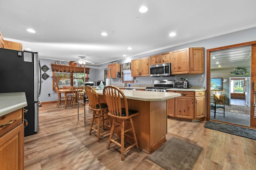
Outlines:
[[[203,148],[175,137],[147,158],[166,170],[191,170]]]

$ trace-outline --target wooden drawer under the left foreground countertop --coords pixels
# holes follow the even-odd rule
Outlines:
[[[0,125],[5,125],[12,120],[10,125],[0,127],[0,137],[23,122],[23,108],[0,117]]]

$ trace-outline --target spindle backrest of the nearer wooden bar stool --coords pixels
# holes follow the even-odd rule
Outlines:
[[[114,116],[122,116],[122,103],[126,116],[129,116],[128,103],[124,93],[116,86],[106,86],[103,89],[103,96],[108,105],[108,111]]]

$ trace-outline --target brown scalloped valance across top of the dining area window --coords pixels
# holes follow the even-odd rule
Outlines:
[[[52,66],[52,71],[56,72],[80,72],[80,73],[85,73],[89,74],[90,68],[84,68],[84,67],[77,67],[77,66],[66,66],[66,65],[61,65],[61,64],[51,64]]]

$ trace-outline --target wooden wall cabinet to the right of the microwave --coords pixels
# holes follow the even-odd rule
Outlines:
[[[171,51],[172,74],[204,73],[204,48],[186,48]]]

